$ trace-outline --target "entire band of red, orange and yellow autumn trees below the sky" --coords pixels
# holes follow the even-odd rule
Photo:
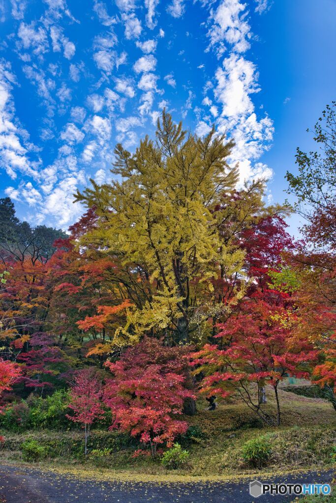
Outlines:
[[[275,426],[279,383],[295,376],[328,389],[336,409],[334,118],[333,105],[316,126],[324,153],[298,150],[287,175],[307,219],[299,241],[264,181],[238,188],[233,141],[187,134],[165,111],[155,140],[116,146],[115,180],[76,194],[86,212],[69,234],[20,222],[2,199],[0,392],[72,383],[85,452],[108,408],[111,428],[153,456],[186,431],[198,392]]]

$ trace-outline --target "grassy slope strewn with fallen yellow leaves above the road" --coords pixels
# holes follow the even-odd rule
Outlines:
[[[270,398],[265,407],[272,412],[275,403],[271,390],[268,395]],[[190,466],[186,470],[179,470],[178,476],[221,478],[255,473],[255,469],[243,464],[241,448],[247,440],[260,435],[270,437],[273,449],[271,460],[263,468],[264,472],[282,473],[310,467],[326,467],[330,460],[331,446],[336,443],[336,413],[331,404],[322,399],[306,398],[285,391],[280,391],[280,398],[283,423],[280,428],[261,428],[255,414],[242,404],[221,404],[215,411],[208,411],[206,402],[199,403],[198,413],[186,420],[191,426],[200,428],[205,433],[205,438],[198,439],[187,447],[190,451]],[[36,438],[46,445],[52,445],[50,442],[53,439],[57,444],[64,445],[64,453],[55,459],[50,459],[48,461],[50,466],[69,468],[75,464],[76,470],[80,466],[81,470],[84,468],[81,465],[83,460],[70,459],[67,454],[69,445],[76,443],[81,452],[80,433],[26,432],[21,435],[4,433],[6,444],[0,451],[2,460],[20,459],[20,445],[27,437]],[[104,446],[106,433],[93,432],[92,435],[95,442],[102,435],[101,443]],[[109,435],[112,440],[113,435],[115,434]],[[165,477],[171,473],[150,458],[132,458],[135,447],[125,447],[121,444],[117,449],[112,457],[107,459],[107,470],[96,468],[90,459],[87,460],[85,466],[88,473],[92,473],[92,469],[100,471],[102,475],[111,473],[111,470],[117,471],[119,475],[123,473],[126,477],[130,474],[132,476],[138,474],[140,477],[151,475]]]

